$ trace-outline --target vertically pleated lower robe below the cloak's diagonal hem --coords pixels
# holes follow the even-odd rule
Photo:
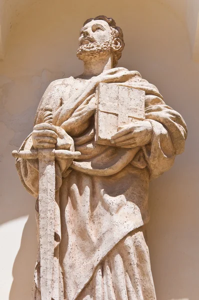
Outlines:
[[[76,300],[149,299],[156,297],[148,247],[140,228],[127,234],[104,257]]]

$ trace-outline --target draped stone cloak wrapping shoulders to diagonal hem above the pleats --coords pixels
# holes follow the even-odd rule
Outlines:
[[[145,91],[145,119],[152,125],[149,144],[121,148],[94,141],[95,89],[99,82]],[[65,148],[81,152],[80,158],[73,161],[62,165],[58,160],[55,162],[53,280],[57,288],[53,299],[81,299],[79,295],[96,274],[101,261],[130,232],[137,232],[137,228],[147,223],[149,179],[168,170],[175,155],[183,151],[186,125],[180,114],[164,103],[154,85],[142,79],[137,71],[121,67],[87,80],[71,76],[53,81],[40,101],[35,124],[43,122],[46,106],[52,109],[53,124],[66,132],[65,136],[60,134],[57,147],[64,148],[67,140]],[[33,148],[31,134],[21,145],[21,149],[30,148]],[[38,161],[17,158],[16,167],[22,184],[37,197]],[[38,218],[37,202],[36,211]],[[39,252],[33,299],[40,299]]]

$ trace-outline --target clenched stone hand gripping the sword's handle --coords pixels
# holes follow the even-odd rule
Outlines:
[[[58,134],[56,126],[48,123],[40,123],[33,127],[32,143],[37,148],[54,148]]]

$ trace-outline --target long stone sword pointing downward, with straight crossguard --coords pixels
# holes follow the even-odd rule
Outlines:
[[[51,119],[48,118],[48,121]],[[38,158],[38,207],[39,207],[39,250],[41,300],[52,299],[52,272],[55,229],[55,157],[78,158],[79,151],[39,148],[38,150],[12,151],[13,157]]]

